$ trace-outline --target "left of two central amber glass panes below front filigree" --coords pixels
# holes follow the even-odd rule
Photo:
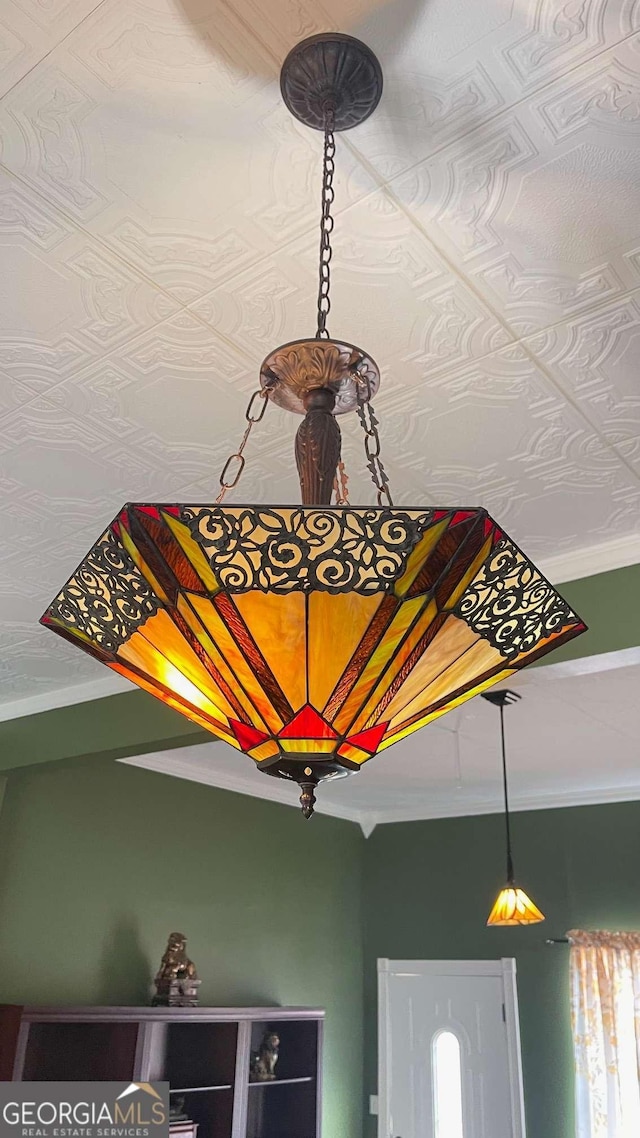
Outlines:
[[[238,593],[243,620],[294,711],[306,702],[306,620],[304,593]]]

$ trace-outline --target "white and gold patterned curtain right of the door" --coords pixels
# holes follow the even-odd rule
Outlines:
[[[640,1138],[640,932],[567,937],[576,1138]]]

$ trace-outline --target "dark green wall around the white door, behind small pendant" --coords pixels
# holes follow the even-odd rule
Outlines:
[[[500,815],[384,825],[364,872],[366,1094],[376,1090],[376,959],[515,956],[527,1138],[574,1138],[568,929],[640,929],[640,802],[518,813],[516,875],[547,915],[486,929],[503,883]],[[372,1121],[367,1133],[374,1135]]]

